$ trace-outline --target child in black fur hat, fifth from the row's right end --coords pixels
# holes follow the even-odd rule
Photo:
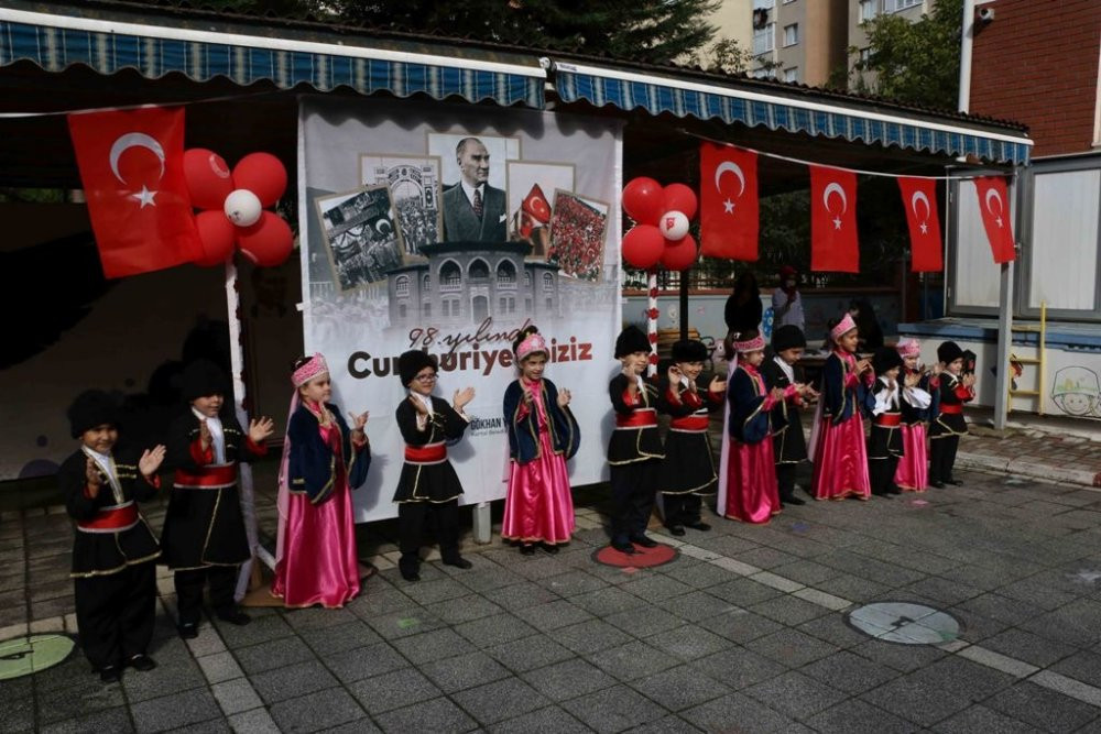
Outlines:
[[[795,385],[796,393],[776,403],[772,408],[772,449],[776,459],[776,486],[782,505],[803,505],[795,496],[795,475],[799,464],[807,460],[807,439],[803,435],[800,408],[805,399],[818,393],[803,382],[796,373],[796,363],[807,348],[803,330],[794,325],[782,326],[772,332],[772,359],[761,363],[764,386],[786,391]]]

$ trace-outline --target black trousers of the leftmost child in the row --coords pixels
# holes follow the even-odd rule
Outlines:
[[[118,573],[73,579],[84,655],[97,670],[145,653],[156,617],[153,561]]]

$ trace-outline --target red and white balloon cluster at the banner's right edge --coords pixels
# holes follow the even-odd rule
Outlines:
[[[697,204],[696,193],[684,184],[663,187],[645,176],[631,179],[623,187],[623,209],[636,224],[623,235],[623,260],[640,270],[691,267],[696,239],[688,222]]]

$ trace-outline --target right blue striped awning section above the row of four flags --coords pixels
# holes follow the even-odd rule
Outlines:
[[[597,107],[642,108],[701,120],[719,119],[748,127],[804,132],[869,144],[958,157],[973,154],[994,163],[1028,163],[1032,140],[1021,133],[970,127],[963,120],[926,120],[903,112],[841,107],[830,100],[771,95],[621,69],[558,62],[555,89],[567,102]]]

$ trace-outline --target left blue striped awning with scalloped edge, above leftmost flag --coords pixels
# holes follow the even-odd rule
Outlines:
[[[534,56],[514,63],[312,40],[126,23],[0,8],[0,66],[31,61],[47,72],[85,64],[101,74],[133,68],[149,78],[178,72],[196,81],[224,76],[281,89],[307,84],[364,95],[425,94],[471,102],[543,108],[546,72]]]

